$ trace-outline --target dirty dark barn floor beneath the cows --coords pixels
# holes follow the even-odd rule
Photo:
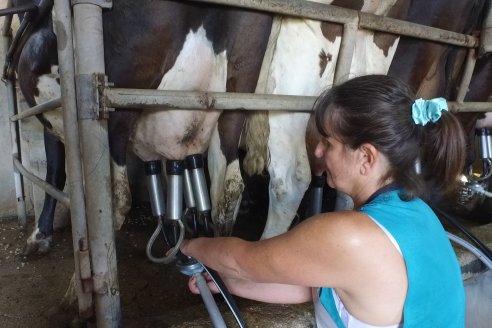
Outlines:
[[[187,277],[174,264],[147,259],[145,246],[153,229],[148,216],[134,213],[116,235],[124,327],[211,327],[200,296],[187,289]],[[0,327],[83,327],[73,320],[73,309],[59,307],[74,267],[70,228],[55,231],[53,249],[44,256],[22,257],[26,238],[15,220],[0,220]],[[221,298],[217,300],[229,326],[232,315]],[[310,326],[307,306],[265,308],[237,298],[236,302],[250,327],[273,327],[261,323],[272,318],[279,318],[276,327],[294,327],[299,318],[303,323],[298,327]]]

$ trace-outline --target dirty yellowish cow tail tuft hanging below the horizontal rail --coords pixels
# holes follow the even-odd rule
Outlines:
[[[242,144],[246,149],[243,169],[247,175],[261,175],[266,169],[268,164],[269,134],[268,112],[257,111],[250,113],[246,120],[242,138]]]

